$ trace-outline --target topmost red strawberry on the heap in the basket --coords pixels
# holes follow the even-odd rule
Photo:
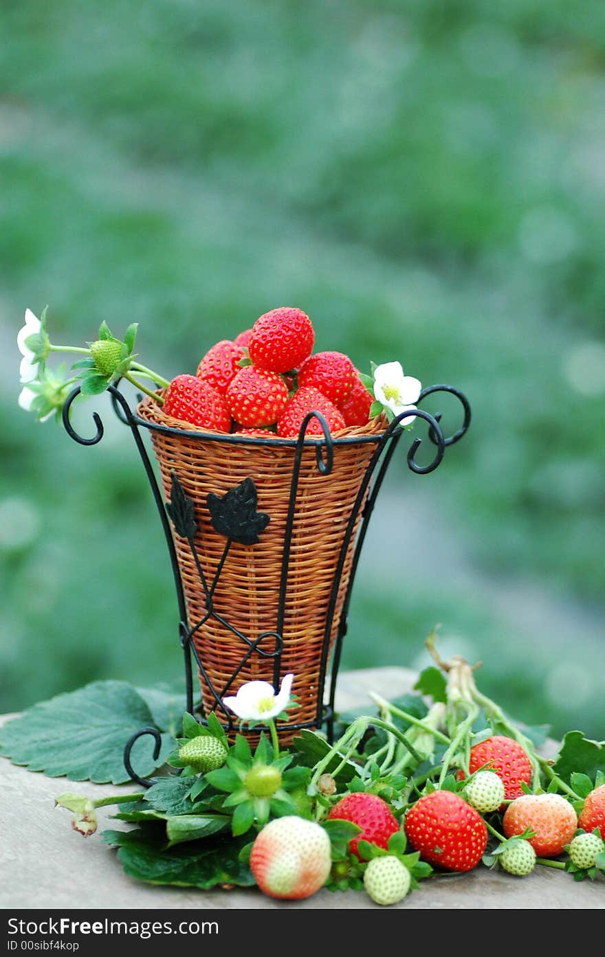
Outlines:
[[[253,325],[248,350],[255,366],[288,372],[311,354],[314,342],[315,333],[306,313],[282,306],[265,312]]]

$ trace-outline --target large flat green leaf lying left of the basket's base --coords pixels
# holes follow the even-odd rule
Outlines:
[[[0,730],[0,753],[13,764],[51,777],[123,784],[128,780],[124,746],[146,725],[153,725],[151,712],[131,685],[94,681],[78,691],[34,704],[6,723]],[[173,746],[171,737],[162,735],[160,756],[154,762],[151,737],[139,739],[132,748],[132,767],[148,777],[165,763]]]

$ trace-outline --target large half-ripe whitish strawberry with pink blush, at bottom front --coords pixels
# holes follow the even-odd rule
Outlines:
[[[330,842],[324,828],[295,815],[265,824],[250,854],[250,868],[260,890],[289,901],[319,891],[330,865]]]

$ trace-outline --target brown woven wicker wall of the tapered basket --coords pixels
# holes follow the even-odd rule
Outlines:
[[[174,472],[185,493],[195,502],[198,526],[195,547],[209,583],[223,553],[225,538],[214,531],[210,522],[208,494],[222,496],[243,479],[254,480],[258,511],[266,512],[271,521],[260,534],[257,545],[234,543],[231,546],[214,591],[213,604],[216,612],[252,640],[263,632],[276,631],[294,447],[277,446],[271,439],[263,445],[245,445],[189,437],[188,432],[195,432],[193,426],[166,415],[148,398],[138,412],[151,426],[179,429],[180,434],[171,435],[151,428],[151,438],[166,500],[170,499],[170,473]],[[383,420],[374,419],[363,428],[346,429],[335,437],[378,435],[384,428]],[[302,454],[280,671],[281,677],[289,672],[295,675],[293,691],[299,697],[300,707],[290,712],[292,723],[314,722],[316,718],[330,590],[351,509],[375,449],[374,442],[335,445],[329,476],[318,471],[314,446],[306,446]],[[205,596],[188,542],[178,535],[174,538],[191,626],[205,614]],[[347,591],[355,538],[354,534],[340,580],[330,648]],[[210,619],[193,640],[209,678],[220,693],[243,657],[244,644],[214,619]],[[262,647],[273,651],[272,640],[265,640],[267,643]],[[255,679],[273,681],[272,658],[253,654],[228,694],[235,694],[244,681]],[[205,682],[200,680],[200,684],[208,713],[215,702]],[[222,717],[220,712],[218,716]],[[286,729],[281,737],[284,742],[288,739]]]

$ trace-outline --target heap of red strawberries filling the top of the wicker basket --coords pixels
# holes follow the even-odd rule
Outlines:
[[[357,369],[342,352],[311,355],[314,342],[302,309],[272,309],[233,342],[213,345],[196,375],[177,375],[164,411],[201,429],[265,438],[297,436],[309,412],[321,412],[332,433],[365,425],[373,396]],[[316,418],[305,434],[323,434]]]

